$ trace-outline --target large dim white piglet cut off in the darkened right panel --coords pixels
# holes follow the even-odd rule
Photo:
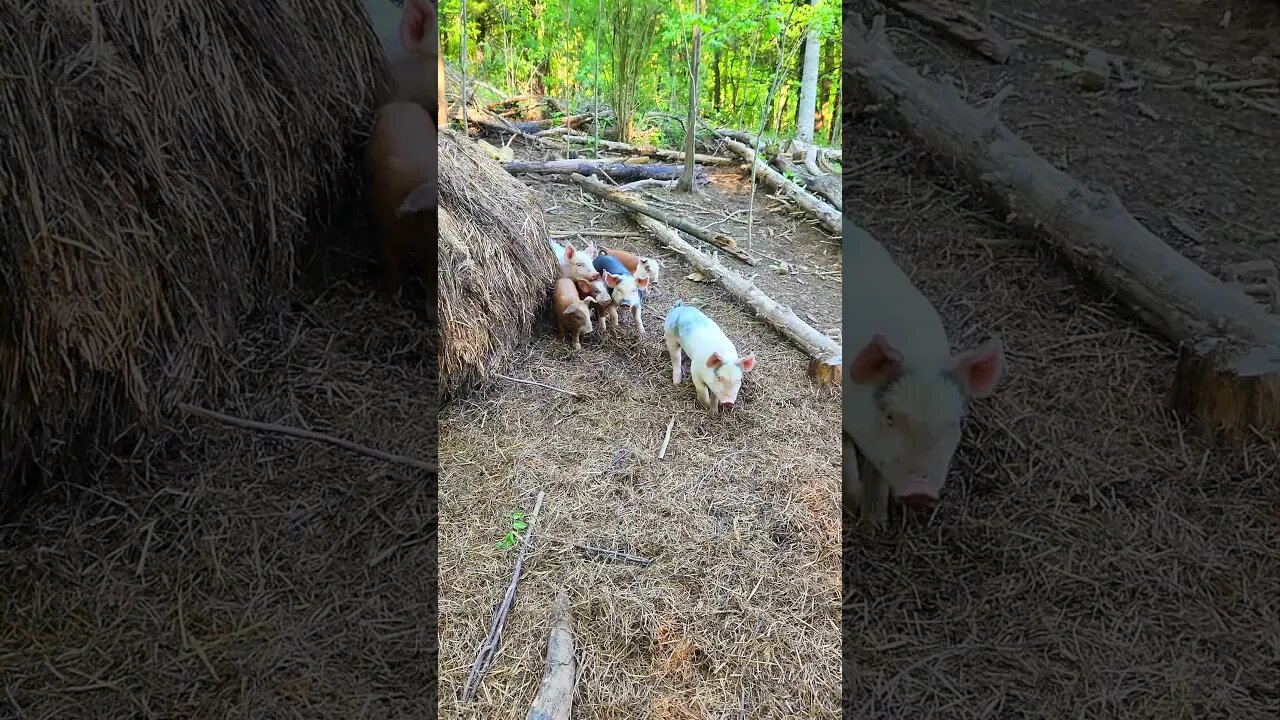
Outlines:
[[[844,497],[877,525],[892,495],[938,501],[970,397],[991,395],[1004,350],[991,340],[951,354],[937,310],[888,251],[844,225]],[[847,509],[851,510],[851,509]]]

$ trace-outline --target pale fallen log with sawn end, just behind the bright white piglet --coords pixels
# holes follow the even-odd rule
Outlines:
[[[680,252],[691,265],[716,278],[733,299],[754,310],[765,323],[778,331],[782,337],[791,341],[801,352],[808,355],[808,373],[810,379],[818,384],[840,386],[842,360],[838,342],[801,320],[786,305],[764,295],[751,281],[730,270],[710,255],[701,252],[686,242],[675,229],[648,215],[639,213],[628,214],[640,227],[653,233],[659,243]]]

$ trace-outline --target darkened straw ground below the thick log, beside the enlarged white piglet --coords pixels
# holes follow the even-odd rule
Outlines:
[[[1174,355],[874,124],[850,214],[1010,372],[940,511],[850,533],[852,717],[1280,716],[1280,455],[1162,409]]]

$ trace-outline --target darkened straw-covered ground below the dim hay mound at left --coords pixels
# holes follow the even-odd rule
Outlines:
[[[241,418],[428,459],[417,313],[330,281],[228,348]],[[434,477],[184,420],[0,525],[0,716],[429,717]]]

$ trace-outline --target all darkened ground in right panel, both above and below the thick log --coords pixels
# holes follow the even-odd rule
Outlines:
[[[1244,28],[1249,5],[1268,29]],[[1267,5],[1124,0],[996,10],[1170,64],[1176,81],[1194,61],[1179,47],[1221,65],[1224,79],[1276,77],[1266,46],[1280,26]],[[1235,20],[1224,31],[1217,23],[1229,9]],[[1160,38],[1164,24],[1172,42]],[[1012,83],[1002,115],[1015,132],[1076,177],[1114,186],[1139,219],[1211,272],[1280,261],[1280,119],[1149,83],[1085,94],[1044,64],[1065,58],[1060,45],[1030,38],[1023,59],[1000,68],[904,26],[890,15],[904,60],[956,78],[972,99]],[[1194,437],[1164,409],[1174,370],[1166,341],[1055,256],[1010,236],[959,177],[900,137],[873,120],[846,127],[845,137],[856,168],[850,215],[937,304],[954,345],[998,334],[1009,348],[1007,375],[975,404],[940,511],[899,518],[884,533],[847,533],[846,711],[1280,716],[1276,441],[1231,452]],[[1198,238],[1175,231],[1172,215]]]

